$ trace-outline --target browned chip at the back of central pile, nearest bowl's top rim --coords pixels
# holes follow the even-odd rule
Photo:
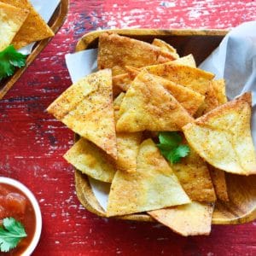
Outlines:
[[[125,73],[125,66],[144,67],[160,63],[159,57],[170,61],[172,55],[159,47],[114,33],[102,33],[99,37],[98,68],[112,68],[113,76]]]

